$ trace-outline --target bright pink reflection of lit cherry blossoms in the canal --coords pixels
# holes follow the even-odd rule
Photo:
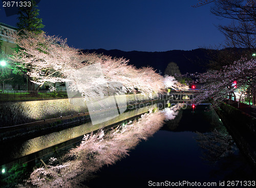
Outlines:
[[[178,114],[181,105],[161,111],[152,110],[141,118],[105,132],[84,135],[80,146],[70,150],[61,158],[60,165],[48,169],[36,169],[28,182],[39,187],[72,187],[86,180],[92,173],[105,165],[113,165],[128,155],[142,139],[152,136],[162,127],[164,120],[171,120]]]

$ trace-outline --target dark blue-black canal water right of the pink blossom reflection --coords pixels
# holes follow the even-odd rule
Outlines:
[[[231,181],[239,181],[235,187],[245,187],[244,182],[256,180],[252,165],[216,112],[209,110],[209,105],[197,106],[195,110],[181,109],[174,120],[166,121],[159,131],[140,142],[129,154],[115,165],[103,167],[83,184],[148,187],[161,182],[174,185],[172,183],[186,181],[184,187],[198,182],[201,186],[204,182],[213,183],[206,187],[223,187],[220,183],[224,183],[226,187]]]

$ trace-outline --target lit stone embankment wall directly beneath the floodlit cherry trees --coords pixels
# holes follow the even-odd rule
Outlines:
[[[115,96],[116,101],[124,96]],[[106,97],[109,98],[109,97]],[[125,95],[126,104],[157,98],[157,95]],[[88,112],[83,98],[0,103],[0,127],[8,127],[60,116]]]

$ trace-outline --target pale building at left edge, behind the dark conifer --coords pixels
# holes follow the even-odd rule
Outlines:
[[[0,22],[0,39],[3,41],[1,50],[8,55],[11,55],[13,48],[16,47],[14,39],[11,37],[11,33],[16,31],[17,28]]]

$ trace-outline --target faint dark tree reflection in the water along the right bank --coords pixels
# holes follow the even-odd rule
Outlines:
[[[223,177],[222,180],[254,180],[255,171],[248,165],[242,153],[235,154],[238,148],[224,129],[205,134],[197,132],[202,158],[210,165],[216,166],[210,174],[213,177]]]

